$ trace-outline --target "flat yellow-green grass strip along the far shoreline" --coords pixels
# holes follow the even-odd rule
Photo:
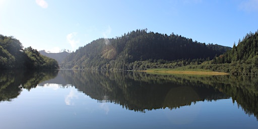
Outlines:
[[[204,69],[149,69],[150,74],[187,74],[187,75],[228,75],[227,73],[213,72]]]

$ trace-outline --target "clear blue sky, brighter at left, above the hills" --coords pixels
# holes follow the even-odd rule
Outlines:
[[[0,0],[0,34],[75,51],[137,29],[232,47],[258,30],[258,0]]]

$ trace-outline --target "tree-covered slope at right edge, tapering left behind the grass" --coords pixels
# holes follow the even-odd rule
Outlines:
[[[200,65],[188,65],[185,69],[207,69],[234,75],[258,75],[258,31],[247,33],[231,50],[205,61]]]

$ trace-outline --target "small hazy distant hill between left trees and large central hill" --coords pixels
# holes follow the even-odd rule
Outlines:
[[[59,53],[47,53],[45,50],[40,50],[40,54],[45,55],[47,57],[55,59],[58,64],[61,64],[63,59],[66,58],[70,53],[67,51],[59,52]]]

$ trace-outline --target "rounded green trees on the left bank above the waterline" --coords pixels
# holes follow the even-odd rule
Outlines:
[[[41,55],[36,49],[23,49],[12,36],[0,35],[0,69],[57,69],[56,60]]]

